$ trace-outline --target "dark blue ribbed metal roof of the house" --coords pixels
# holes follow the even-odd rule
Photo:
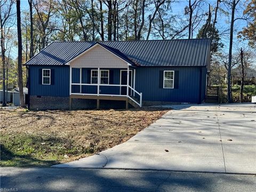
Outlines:
[[[208,66],[210,39],[98,42],[122,59],[139,66]],[[25,65],[65,65],[97,42],[53,42]]]

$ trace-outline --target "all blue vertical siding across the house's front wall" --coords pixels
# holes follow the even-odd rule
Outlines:
[[[39,84],[39,69],[54,69],[54,85]],[[202,79],[200,83],[200,69]],[[80,71],[72,71],[73,82],[79,83]],[[113,84],[120,84],[120,70],[109,69],[113,77]],[[206,68],[200,67],[138,67],[135,77],[135,90],[142,92],[144,101],[171,101],[171,102],[199,102],[205,99]],[[159,87],[159,71],[179,71],[178,89],[163,89]],[[91,69],[82,69],[82,83],[91,83],[88,77]],[[69,97],[69,66],[29,66],[30,95]],[[175,78],[175,73],[174,73]],[[163,79],[161,79],[163,82]],[[174,80],[175,81],[175,80]],[[201,85],[201,86],[200,86]],[[73,92],[80,92],[79,85],[72,86]],[[101,94],[119,94],[119,86],[100,86]],[[82,92],[97,93],[97,86],[82,85]]]

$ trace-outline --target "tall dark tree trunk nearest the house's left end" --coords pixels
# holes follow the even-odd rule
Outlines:
[[[20,24],[20,1],[16,2],[17,6],[17,32],[18,32],[18,78],[19,78],[19,92],[20,92],[20,106],[25,106],[23,95],[23,81],[22,81],[22,39],[21,39],[21,24]]]

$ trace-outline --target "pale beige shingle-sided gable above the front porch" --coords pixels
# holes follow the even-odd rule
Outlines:
[[[88,52],[70,62],[75,68],[127,68],[127,62],[118,58],[100,45],[96,45]]]

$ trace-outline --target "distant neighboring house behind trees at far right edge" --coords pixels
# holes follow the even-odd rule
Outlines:
[[[233,84],[241,84],[242,68],[237,67],[232,69],[232,82]],[[256,70],[250,67],[244,67],[244,83],[251,85],[256,84]]]

